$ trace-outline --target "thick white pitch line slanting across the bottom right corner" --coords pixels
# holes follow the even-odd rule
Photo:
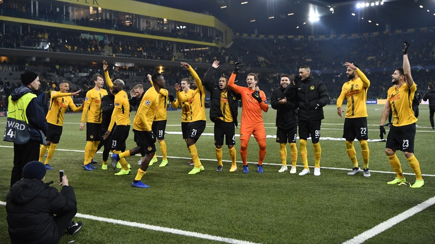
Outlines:
[[[413,215],[425,210],[426,208],[431,207],[434,204],[435,204],[435,197],[432,197],[432,198],[408,209],[407,211],[405,211],[399,215],[396,215],[387,221],[382,222],[381,224],[373,227],[372,229],[361,233],[360,235],[344,242],[343,244],[361,244],[361,243],[369,240],[370,238],[372,238],[372,237],[390,229],[391,227],[399,224],[400,222],[412,217]]]

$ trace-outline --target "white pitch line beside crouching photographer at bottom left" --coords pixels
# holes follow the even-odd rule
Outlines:
[[[6,205],[6,203],[0,201],[0,205]],[[106,223],[111,223],[111,224],[118,224],[118,225],[123,225],[123,226],[136,227],[136,228],[141,228],[141,229],[146,229],[146,230],[151,230],[151,231],[165,232],[165,233],[170,233],[170,234],[175,234],[175,235],[180,235],[180,236],[194,237],[194,238],[200,238],[200,239],[205,239],[205,240],[217,241],[217,242],[222,242],[222,243],[255,244],[253,242],[237,240],[237,239],[232,239],[232,238],[212,236],[212,235],[202,234],[202,233],[198,233],[198,232],[183,231],[183,230],[172,229],[172,228],[161,227],[161,226],[147,225],[147,224],[142,224],[142,223],[138,223],[138,222],[130,222],[130,221],[125,221],[125,220],[103,218],[103,217],[98,217],[98,216],[93,216],[93,215],[88,215],[88,214],[77,213],[75,217],[82,218],[82,219],[95,220],[95,221],[100,221],[100,222],[106,222]]]

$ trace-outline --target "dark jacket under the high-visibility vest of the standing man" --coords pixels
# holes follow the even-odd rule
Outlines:
[[[11,100],[16,101],[29,92],[32,92],[32,90],[29,87],[22,85],[10,93]],[[47,134],[48,124],[45,119],[45,112],[42,103],[38,97],[33,98],[27,105],[26,116],[29,121],[30,140],[42,144],[42,137],[45,137],[45,134]],[[41,130],[44,135],[41,135],[39,130]]]

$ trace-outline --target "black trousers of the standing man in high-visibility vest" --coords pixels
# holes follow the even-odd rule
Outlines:
[[[13,167],[10,176],[10,187],[22,178],[24,165],[39,160],[39,142],[30,140],[26,144],[13,144]]]

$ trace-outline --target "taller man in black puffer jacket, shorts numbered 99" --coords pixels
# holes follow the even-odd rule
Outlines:
[[[302,158],[303,170],[299,175],[309,173],[308,160],[306,156],[306,139],[311,136],[314,148],[314,175],[320,175],[320,125],[324,118],[323,107],[329,102],[328,91],[322,81],[314,78],[308,66],[299,68],[299,76],[284,92],[286,96],[294,99],[298,106],[299,118],[299,153]]]

